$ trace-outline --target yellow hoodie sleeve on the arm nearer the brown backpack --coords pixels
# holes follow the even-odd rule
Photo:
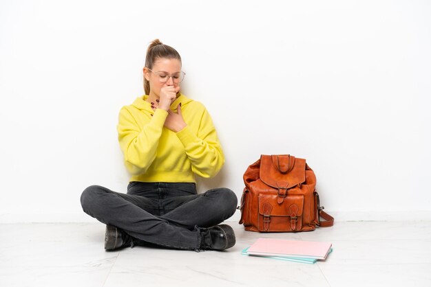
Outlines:
[[[191,161],[191,170],[202,177],[212,177],[224,164],[222,146],[218,141],[213,121],[204,109],[200,119],[198,135],[186,126],[177,133]]]

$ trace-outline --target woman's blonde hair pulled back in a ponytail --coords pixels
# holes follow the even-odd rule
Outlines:
[[[159,39],[156,39],[149,43],[147,49],[147,55],[145,56],[145,67],[148,69],[153,69],[154,62],[156,62],[159,58],[169,58],[169,59],[178,59],[181,62],[181,56],[178,54],[178,51],[171,46],[165,45],[160,42]],[[149,82],[144,76],[144,89],[145,94],[149,95]]]

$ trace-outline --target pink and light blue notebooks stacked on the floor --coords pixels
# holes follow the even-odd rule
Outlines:
[[[329,242],[259,238],[242,250],[242,254],[314,264],[317,260],[325,260],[332,251]]]

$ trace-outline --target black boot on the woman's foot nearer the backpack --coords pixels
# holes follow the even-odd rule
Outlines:
[[[229,225],[217,225],[202,229],[201,249],[224,250],[235,245],[235,233]]]

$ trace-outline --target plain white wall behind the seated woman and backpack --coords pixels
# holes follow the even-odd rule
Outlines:
[[[2,0],[0,222],[92,222],[85,187],[126,192],[118,111],[154,38],[224,148],[200,191],[240,198],[260,154],[293,154],[336,220],[431,218],[429,1]]]

